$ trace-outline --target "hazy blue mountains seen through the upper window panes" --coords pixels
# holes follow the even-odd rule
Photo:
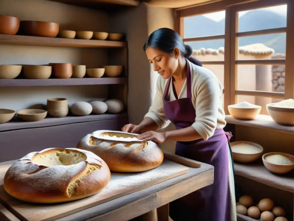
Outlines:
[[[266,10],[252,10],[239,19],[239,32],[255,31],[269,28],[286,27],[286,16]],[[225,19],[215,22],[204,16],[185,18],[185,38],[202,37],[208,35],[224,34]],[[286,52],[286,33],[269,34],[239,38],[239,46],[248,44],[263,43],[275,50],[275,53]],[[188,42],[193,49],[213,48],[218,49],[224,46],[224,40]]]

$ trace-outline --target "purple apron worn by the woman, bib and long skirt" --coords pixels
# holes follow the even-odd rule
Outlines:
[[[195,108],[192,104],[191,71],[189,64],[187,66],[187,98],[166,100],[171,78],[169,78],[163,94],[164,113],[166,118],[175,124],[176,129],[191,126],[196,118]],[[216,129],[213,136],[207,141],[198,139],[177,142],[177,155],[214,166],[214,183],[171,202],[170,217],[174,221],[231,220],[228,168],[229,138],[230,135],[225,133],[223,129]]]

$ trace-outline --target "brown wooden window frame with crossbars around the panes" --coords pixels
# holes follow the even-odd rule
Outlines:
[[[238,12],[287,4],[287,27],[237,32]],[[225,11],[225,34],[184,38],[184,17],[198,16],[217,11]],[[224,65],[224,109],[228,114],[228,105],[238,103],[237,95],[249,95],[268,98],[294,98],[294,1],[293,0],[222,0],[174,11],[175,29],[184,42],[225,39],[224,61],[207,61],[203,64]],[[286,59],[238,60],[238,37],[265,34],[286,34]],[[291,40],[292,39],[292,40]],[[229,53],[226,53],[229,52]],[[285,93],[238,90],[238,65],[285,65]]]

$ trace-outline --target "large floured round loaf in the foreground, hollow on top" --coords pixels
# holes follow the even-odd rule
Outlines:
[[[76,148],[49,148],[12,164],[4,176],[4,188],[26,202],[57,203],[91,196],[109,180],[107,164],[95,154]]]

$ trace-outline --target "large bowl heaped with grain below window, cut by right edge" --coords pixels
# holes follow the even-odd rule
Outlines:
[[[276,123],[294,126],[294,99],[267,104],[266,110]]]

